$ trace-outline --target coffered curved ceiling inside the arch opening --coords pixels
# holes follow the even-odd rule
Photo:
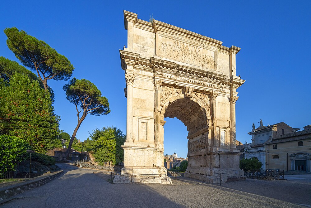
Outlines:
[[[191,99],[177,99],[170,103],[164,117],[177,118],[187,126],[189,134],[208,126],[204,109]]]

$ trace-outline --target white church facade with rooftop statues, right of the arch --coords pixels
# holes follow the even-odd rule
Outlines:
[[[260,126],[255,128],[253,124],[253,130],[248,134],[252,136],[252,143],[245,147],[244,158],[256,157],[262,162],[262,168],[267,169],[267,145],[273,138],[279,137],[284,134],[294,133],[300,128],[292,128],[284,122],[276,123],[273,125],[264,126],[262,120],[260,120]]]

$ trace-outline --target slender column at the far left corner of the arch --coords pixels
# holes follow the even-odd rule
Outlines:
[[[133,84],[134,76],[125,74],[126,88],[127,88],[127,102],[126,102],[126,142],[133,142],[132,128],[133,128]]]

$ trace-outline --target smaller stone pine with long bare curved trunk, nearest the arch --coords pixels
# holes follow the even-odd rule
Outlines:
[[[63,87],[63,89],[66,92],[67,100],[76,106],[78,121],[77,127],[74,129],[70,138],[66,152],[66,157],[68,159],[73,140],[86,116],[88,114],[96,116],[107,115],[110,113],[110,109],[108,99],[101,96],[100,90],[89,80],[77,80],[76,78],[73,78]]]

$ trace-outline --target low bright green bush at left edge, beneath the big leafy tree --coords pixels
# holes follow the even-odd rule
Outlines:
[[[18,162],[26,156],[29,144],[23,139],[0,135],[0,177],[9,171],[15,171]]]

